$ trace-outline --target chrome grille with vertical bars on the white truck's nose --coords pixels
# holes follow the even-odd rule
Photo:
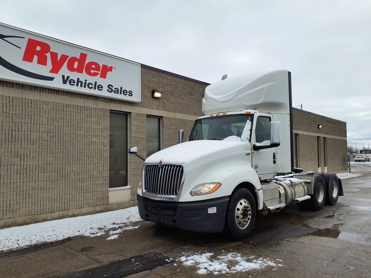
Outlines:
[[[146,165],[144,190],[157,195],[176,196],[183,178],[181,165]]]

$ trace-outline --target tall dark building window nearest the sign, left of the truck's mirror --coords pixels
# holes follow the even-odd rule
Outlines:
[[[109,188],[127,186],[128,115],[109,112]]]

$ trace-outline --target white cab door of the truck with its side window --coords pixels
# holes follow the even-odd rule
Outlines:
[[[270,122],[272,116],[257,116],[253,123],[252,145],[270,145]],[[276,148],[254,150],[252,155],[252,167],[261,179],[273,178],[277,168]]]

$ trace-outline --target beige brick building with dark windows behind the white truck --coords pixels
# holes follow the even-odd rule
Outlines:
[[[2,79],[0,228],[135,206],[142,160],[128,147],[146,157],[188,136],[208,85],[142,64],[129,102]],[[293,133],[294,166],[347,171],[345,122],[293,109]]]

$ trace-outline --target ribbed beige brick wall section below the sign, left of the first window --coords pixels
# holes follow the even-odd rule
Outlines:
[[[105,109],[4,95],[0,103],[0,219],[107,203]]]

